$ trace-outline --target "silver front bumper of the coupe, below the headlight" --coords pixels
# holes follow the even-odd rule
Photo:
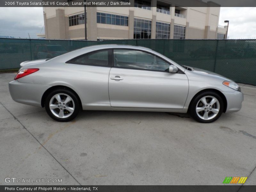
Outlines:
[[[237,112],[242,108],[244,94],[242,92],[222,92],[227,99],[226,113]]]

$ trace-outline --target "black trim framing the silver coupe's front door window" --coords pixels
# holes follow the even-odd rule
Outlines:
[[[129,68],[129,67],[116,67],[114,66],[114,50],[132,50],[132,51],[141,51],[141,52],[146,52],[146,53],[149,53],[151,55],[154,55],[156,57],[158,57],[159,59],[162,59],[164,60],[165,62],[169,63],[169,65],[173,65],[172,63],[170,63],[169,61],[165,60],[164,58],[152,53],[152,52],[148,52],[148,51],[145,51],[145,50],[140,50],[140,49],[131,49],[131,48],[113,48],[112,49],[112,56],[113,56],[113,68],[120,68],[120,69],[134,69],[134,70],[142,70],[142,71],[156,71],[156,72],[164,72],[164,73],[169,73],[169,71],[160,71],[160,70],[152,70],[152,69],[137,69],[137,68]],[[180,73],[180,74],[185,74],[182,70],[180,70],[180,68],[178,68],[178,72],[177,73]]]

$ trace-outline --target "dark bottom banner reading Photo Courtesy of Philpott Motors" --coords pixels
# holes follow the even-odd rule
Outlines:
[[[256,186],[226,185],[226,186],[204,186],[204,185],[158,185],[158,186],[125,186],[125,185],[98,185],[98,186],[39,186],[39,185],[20,185],[20,186],[0,186],[1,192],[255,192]]]

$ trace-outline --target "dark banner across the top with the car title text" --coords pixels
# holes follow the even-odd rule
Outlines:
[[[157,0],[148,1],[151,7]],[[165,0],[165,4],[180,7],[256,7],[256,0]],[[0,7],[134,7],[136,0],[1,0]]]

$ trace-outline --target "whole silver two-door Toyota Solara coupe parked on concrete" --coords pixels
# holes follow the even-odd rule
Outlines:
[[[12,99],[45,107],[60,122],[83,109],[189,112],[210,123],[223,112],[239,111],[244,99],[230,79],[138,46],[89,46],[20,65],[9,83]]]

